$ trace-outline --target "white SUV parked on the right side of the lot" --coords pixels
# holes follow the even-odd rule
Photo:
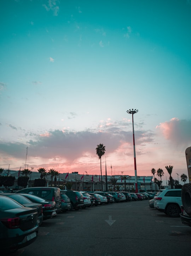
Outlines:
[[[181,189],[161,189],[155,196],[154,208],[169,217],[179,217],[181,205]]]

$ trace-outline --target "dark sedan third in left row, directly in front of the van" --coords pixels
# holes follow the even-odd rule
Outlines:
[[[48,201],[41,197],[30,195],[30,194],[22,194],[22,195],[27,197],[30,201],[34,203],[40,203],[42,205],[43,220],[50,219],[57,216],[55,201]]]

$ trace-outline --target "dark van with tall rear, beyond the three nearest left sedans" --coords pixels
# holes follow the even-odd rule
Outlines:
[[[61,194],[58,187],[28,187],[16,193],[32,194],[49,201],[56,202],[57,213],[61,211]]]

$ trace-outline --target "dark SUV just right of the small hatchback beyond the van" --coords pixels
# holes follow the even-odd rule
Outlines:
[[[83,201],[83,195],[80,191],[74,191],[74,190],[61,190],[61,192],[64,192],[69,198],[71,202],[71,210],[79,210],[84,205]]]

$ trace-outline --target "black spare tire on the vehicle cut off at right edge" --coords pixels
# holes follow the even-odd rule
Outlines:
[[[181,190],[181,200],[185,212],[191,217],[191,184],[184,184]]]

